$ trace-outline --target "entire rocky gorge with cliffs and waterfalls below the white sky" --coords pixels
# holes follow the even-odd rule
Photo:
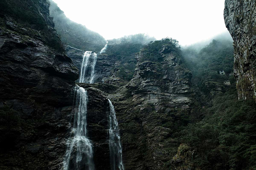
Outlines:
[[[0,169],[255,169],[255,7],[226,0],[234,41],[196,48],[0,1]]]

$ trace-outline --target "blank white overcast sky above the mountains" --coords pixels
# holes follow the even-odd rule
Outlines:
[[[146,33],[189,45],[227,32],[225,0],[53,0],[65,15],[106,40]]]

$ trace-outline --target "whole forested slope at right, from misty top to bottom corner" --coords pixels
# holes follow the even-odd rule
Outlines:
[[[203,120],[180,127],[176,140],[191,147],[194,156],[186,156],[182,165],[197,169],[256,169],[256,104],[238,101],[233,76],[232,42],[213,40],[199,52],[183,50],[184,62],[193,74],[193,83],[210,94],[212,104],[200,110]],[[231,85],[223,85],[230,80]],[[179,152],[178,152],[179,153]],[[177,154],[178,155],[178,154]]]

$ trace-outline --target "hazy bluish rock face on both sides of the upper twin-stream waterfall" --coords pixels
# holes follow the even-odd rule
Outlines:
[[[134,54],[135,52],[138,52],[141,47],[142,44],[140,43],[108,45],[105,53],[97,54],[94,82],[107,83],[119,87],[126,84],[128,80],[132,78],[134,72],[136,64]],[[80,71],[85,51],[69,45],[65,48],[67,55],[72,59]],[[90,79],[92,63],[93,58],[91,56],[89,59],[89,66],[86,70],[85,81]],[[120,74],[121,71],[123,71],[123,74]]]

